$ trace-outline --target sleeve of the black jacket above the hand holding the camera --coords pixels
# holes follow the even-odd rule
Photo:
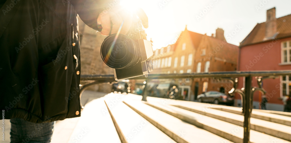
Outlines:
[[[70,3],[86,25],[100,31],[97,27],[98,15],[107,7],[112,8],[117,0],[71,0]]]

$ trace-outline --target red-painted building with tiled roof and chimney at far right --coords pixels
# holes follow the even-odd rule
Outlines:
[[[291,69],[291,15],[276,18],[276,8],[267,10],[267,20],[258,23],[251,33],[239,45],[239,71],[254,70],[290,70]],[[239,88],[244,85],[244,78],[239,79]],[[253,78],[253,86],[258,86]],[[267,110],[283,111],[283,95],[290,95],[291,79],[289,76],[263,81],[267,91]],[[259,109],[261,93],[254,94],[254,108]],[[241,103],[236,97],[236,105]]]

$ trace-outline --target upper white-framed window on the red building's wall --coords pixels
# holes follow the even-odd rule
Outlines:
[[[281,43],[281,63],[291,63],[291,41]]]

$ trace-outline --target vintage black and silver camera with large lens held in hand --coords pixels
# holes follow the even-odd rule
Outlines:
[[[148,74],[153,71],[152,43],[147,40],[141,20],[134,17],[132,26],[126,35],[111,34],[101,45],[101,57],[104,63],[113,68],[115,80]]]

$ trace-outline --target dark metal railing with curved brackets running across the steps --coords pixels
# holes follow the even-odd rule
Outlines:
[[[253,94],[255,91],[260,91],[263,94],[266,91],[262,88],[262,80],[267,78],[275,78],[278,76],[291,75],[291,70],[275,70],[275,71],[232,71],[232,72],[209,72],[209,73],[182,73],[182,74],[150,74],[148,77],[140,76],[133,77],[130,80],[136,79],[174,79],[174,78],[209,78],[214,79],[224,79],[229,80],[233,83],[233,88],[229,91],[230,95],[238,93],[242,99],[242,114],[244,115],[244,143],[249,143],[250,141],[250,117],[253,108]],[[238,78],[245,77],[245,88],[237,89]],[[253,87],[252,77],[255,77],[258,83],[258,87]],[[80,98],[83,91],[88,88],[88,86],[100,83],[112,83],[116,82],[113,75],[81,75],[82,82],[87,82],[86,84],[80,85]],[[143,95],[143,99],[146,101],[146,95]],[[82,106],[82,105],[81,105]]]

